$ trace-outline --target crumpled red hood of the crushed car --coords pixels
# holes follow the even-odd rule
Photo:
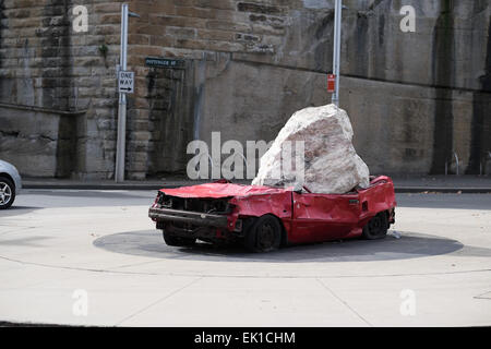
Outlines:
[[[206,183],[176,189],[160,189],[166,195],[178,197],[230,197],[284,193],[290,189],[262,185],[241,185],[232,183]]]

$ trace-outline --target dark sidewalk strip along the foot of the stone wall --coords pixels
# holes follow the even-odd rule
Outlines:
[[[396,192],[398,193],[491,193],[490,176],[394,176]],[[189,180],[185,178],[161,178],[145,181],[124,181],[116,183],[113,180],[71,180],[52,178],[24,178],[25,189],[69,189],[69,190],[158,190],[161,188],[177,188],[211,182],[212,180]],[[249,180],[233,181],[249,184]]]

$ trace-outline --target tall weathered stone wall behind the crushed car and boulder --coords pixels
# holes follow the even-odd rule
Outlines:
[[[73,177],[113,176],[121,2],[0,0],[0,103],[86,110]],[[71,28],[75,4],[88,10],[87,33]],[[331,0],[129,4],[141,17],[130,20],[128,178],[182,172],[187,144],[212,131],[271,141],[294,111],[331,100]],[[478,172],[491,151],[490,1],[344,4],[340,106],[371,171],[443,173],[456,152],[460,172]],[[399,29],[405,4],[415,33]],[[184,62],[149,68],[146,57]]]

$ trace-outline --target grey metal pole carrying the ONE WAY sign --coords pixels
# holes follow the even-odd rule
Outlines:
[[[120,69],[127,70],[128,53],[128,4],[121,5],[121,50],[120,50]],[[116,143],[116,182],[124,181],[124,153],[127,141],[127,94],[119,93],[118,108],[118,140]]]

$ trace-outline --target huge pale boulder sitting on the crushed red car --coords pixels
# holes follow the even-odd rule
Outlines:
[[[279,131],[261,158],[253,185],[306,185],[311,192],[342,194],[369,186],[369,168],[352,146],[352,128],[345,110],[335,105],[299,110]],[[300,166],[285,166],[285,155],[299,156],[303,141],[303,176]],[[291,149],[291,151],[290,151]],[[299,153],[301,151],[298,151]],[[300,157],[297,158],[301,159]],[[297,163],[298,164],[298,163]]]

